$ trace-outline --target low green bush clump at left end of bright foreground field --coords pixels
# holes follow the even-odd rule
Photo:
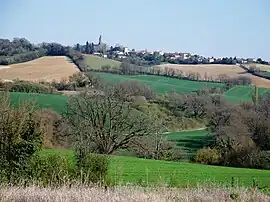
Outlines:
[[[32,156],[25,174],[18,179],[40,186],[103,184],[107,182],[108,165],[108,158],[102,155],[87,154],[74,162],[69,155],[42,152]]]

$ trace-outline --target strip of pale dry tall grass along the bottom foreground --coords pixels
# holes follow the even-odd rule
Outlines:
[[[4,187],[0,188],[0,201],[270,201],[270,196],[243,188],[217,188],[217,187],[197,187],[189,189],[169,189],[143,188],[143,187],[60,187],[60,188],[40,188],[32,187]]]

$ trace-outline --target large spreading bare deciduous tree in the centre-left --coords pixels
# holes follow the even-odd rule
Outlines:
[[[153,132],[149,116],[131,107],[116,86],[103,93],[82,93],[68,103],[66,118],[77,143],[89,152],[111,154],[131,139]]]

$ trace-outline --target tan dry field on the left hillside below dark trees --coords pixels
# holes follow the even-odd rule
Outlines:
[[[0,67],[0,78],[27,81],[60,81],[79,72],[65,56],[45,56],[29,62]]]

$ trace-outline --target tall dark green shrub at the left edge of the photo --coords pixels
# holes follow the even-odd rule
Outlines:
[[[42,131],[32,115],[31,103],[11,108],[9,95],[0,95],[0,169],[2,182],[16,183],[42,146]]]

